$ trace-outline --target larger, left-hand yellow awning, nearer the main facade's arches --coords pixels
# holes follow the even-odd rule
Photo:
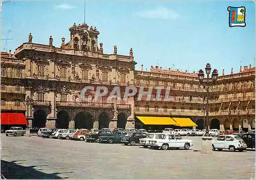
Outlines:
[[[137,116],[137,118],[145,125],[178,125],[178,123],[169,117]]]

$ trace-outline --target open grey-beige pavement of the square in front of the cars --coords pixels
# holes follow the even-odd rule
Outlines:
[[[201,137],[193,149],[201,149]],[[236,178],[254,179],[255,151],[155,150],[2,134],[1,171],[6,178]]]

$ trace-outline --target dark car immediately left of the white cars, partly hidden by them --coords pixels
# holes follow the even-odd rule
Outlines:
[[[124,145],[131,144],[134,146],[135,144],[140,143],[141,138],[146,138],[147,134],[145,132],[129,132],[122,139],[121,142]]]

